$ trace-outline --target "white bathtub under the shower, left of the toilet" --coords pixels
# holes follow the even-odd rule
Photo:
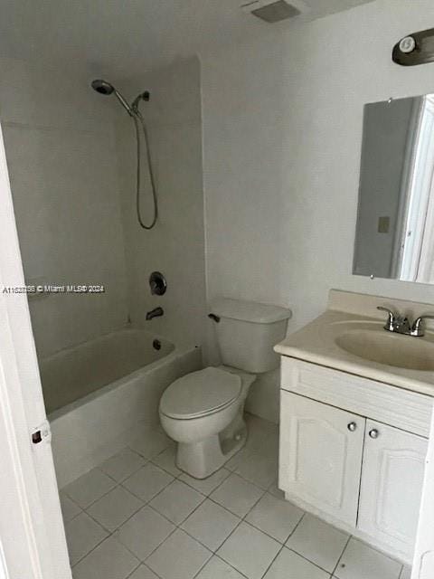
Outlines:
[[[201,349],[127,328],[40,361],[59,487],[156,429],[176,378],[202,367]]]

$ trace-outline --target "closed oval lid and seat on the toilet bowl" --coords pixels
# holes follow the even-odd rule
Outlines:
[[[221,410],[241,392],[241,377],[209,367],[178,378],[161,397],[160,411],[171,418],[197,418]]]

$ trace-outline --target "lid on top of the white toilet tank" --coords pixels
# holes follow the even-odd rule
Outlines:
[[[240,319],[256,324],[272,324],[292,316],[289,308],[261,304],[244,299],[218,298],[212,301],[212,313],[221,318]]]

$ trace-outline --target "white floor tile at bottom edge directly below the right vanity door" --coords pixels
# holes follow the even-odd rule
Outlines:
[[[353,537],[335,570],[339,579],[398,579],[400,573],[401,563]]]

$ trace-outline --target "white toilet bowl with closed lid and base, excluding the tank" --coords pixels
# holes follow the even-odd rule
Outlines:
[[[176,465],[205,479],[246,441],[244,403],[256,376],[225,366],[208,367],[175,380],[163,394],[159,413],[176,442]]]

